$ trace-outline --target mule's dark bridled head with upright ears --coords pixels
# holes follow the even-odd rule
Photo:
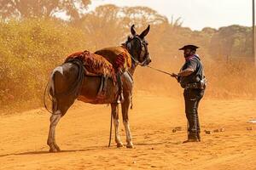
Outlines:
[[[151,62],[151,58],[148,53],[148,42],[145,37],[148,34],[150,26],[146,28],[140,35],[137,35],[134,25],[131,26],[131,37],[129,36],[125,42],[126,48],[128,48],[131,54],[132,62],[135,65],[146,66]]]

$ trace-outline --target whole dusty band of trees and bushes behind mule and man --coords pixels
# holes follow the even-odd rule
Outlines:
[[[207,27],[202,31],[191,31],[182,26],[180,19],[167,20],[146,7],[104,5],[90,13],[83,13],[83,8],[86,9],[90,1],[69,0],[65,4],[59,0],[27,4],[9,2],[2,1],[0,4],[2,110],[9,106],[25,109],[42,106],[50,71],[60,65],[68,54],[119,45],[130,34],[132,24],[137,26],[138,31],[151,25],[148,42],[152,65],[166,71],[178,71],[183,57],[177,49],[194,43],[201,47],[199,54],[206,65],[209,96],[256,95],[256,76],[252,74],[256,70],[247,63],[252,61],[250,27],[226,26],[218,30]],[[74,2],[81,3],[79,10]],[[35,6],[36,3],[39,5]],[[55,18],[57,11],[67,11],[70,20]],[[145,72],[152,77],[159,75],[140,69],[140,73]],[[137,74],[136,89],[177,94],[176,82],[170,77],[150,77]],[[158,86],[159,81],[166,82],[166,85]],[[148,82],[147,86],[145,82]]]

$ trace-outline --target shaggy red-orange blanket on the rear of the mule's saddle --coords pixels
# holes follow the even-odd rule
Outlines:
[[[67,62],[68,59],[79,59],[84,63],[84,68],[87,72],[89,71],[97,76],[110,77],[114,82],[116,82],[113,65],[108,62],[107,59],[102,57],[102,55],[92,54],[89,51],[84,51],[69,55],[67,59],[65,59],[65,62]]]

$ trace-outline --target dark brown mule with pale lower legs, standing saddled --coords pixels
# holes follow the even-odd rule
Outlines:
[[[148,54],[148,42],[144,39],[148,34],[149,26],[140,35],[137,35],[134,26],[131,26],[131,35],[124,43],[125,48],[131,54],[132,64],[131,68],[126,71],[121,79],[124,89],[124,102],[121,104],[123,122],[126,133],[126,147],[132,148],[131,130],[129,127],[128,111],[131,105],[131,95],[133,80],[132,75],[137,65],[148,65],[151,59]],[[119,137],[119,115],[117,113],[116,96],[119,93],[119,88],[112,80],[108,79],[108,86],[104,98],[97,97],[98,89],[101,86],[101,77],[84,76],[83,64],[77,60],[73,62],[64,63],[55,68],[51,74],[49,94],[51,94],[52,115],[50,116],[49,137],[47,144],[49,151],[61,151],[55,142],[55,127],[60,121],[61,116],[64,116],[67,110],[75,99],[81,99],[86,103],[91,104],[110,104],[112,109],[113,124],[115,127],[115,142],[118,147],[123,144]]]

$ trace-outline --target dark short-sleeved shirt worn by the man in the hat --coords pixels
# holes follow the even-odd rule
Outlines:
[[[188,57],[185,64],[181,68],[181,71],[188,68],[193,69],[194,72],[187,77],[178,77],[178,81],[183,88],[185,88],[189,83],[200,82],[204,77],[203,65],[201,64],[201,59],[199,58],[198,54]]]

